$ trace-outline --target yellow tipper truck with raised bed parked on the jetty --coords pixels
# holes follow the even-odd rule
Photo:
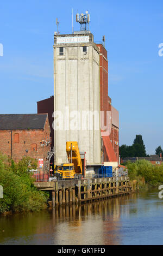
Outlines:
[[[75,176],[82,175],[82,159],[78,142],[67,141],[66,152],[69,163],[58,166],[58,172],[62,175],[62,178],[74,178]]]

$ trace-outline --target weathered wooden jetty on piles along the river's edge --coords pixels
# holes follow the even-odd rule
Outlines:
[[[133,190],[127,176],[35,182],[35,186],[37,189],[52,192],[53,207],[120,197],[131,193]]]

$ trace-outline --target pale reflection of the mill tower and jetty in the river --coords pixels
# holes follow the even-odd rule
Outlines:
[[[120,198],[115,198],[84,204],[79,207],[75,205],[59,207],[56,210],[56,217],[59,218],[60,228],[57,228],[55,244],[120,244],[120,235],[118,234],[118,230],[121,228],[119,200]],[[63,214],[64,209],[66,219]],[[66,222],[68,223],[66,224]]]

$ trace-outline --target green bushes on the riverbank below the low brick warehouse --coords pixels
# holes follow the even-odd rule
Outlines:
[[[36,169],[36,161],[24,157],[17,164],[0,154],[0,185],[3,199],[0,199],[0,213],[5,211],[37,211],[45,207],[47,193],[34,187],[29,169]]]

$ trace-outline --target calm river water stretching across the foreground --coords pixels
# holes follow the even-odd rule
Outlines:
[[[162,245],[158,193],[0,217],[0,245]]]

